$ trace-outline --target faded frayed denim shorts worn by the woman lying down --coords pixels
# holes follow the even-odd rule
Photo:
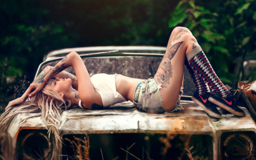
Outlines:
[[[154,78],[140,82],[134,92],[133,104],[139,110],[150,113],[164,113],[163,99]]]

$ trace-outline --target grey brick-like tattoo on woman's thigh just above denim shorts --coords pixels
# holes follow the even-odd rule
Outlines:
[[[156,72],[155,80],[158,84],[162,84],[163,88],[167,88],[170,84],[169,80],[172,78],[172,74],[171,60],[164,57]]]

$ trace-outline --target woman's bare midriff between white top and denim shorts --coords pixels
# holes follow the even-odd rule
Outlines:
[[[130,78],[121,74],[117,74],[115,78],[115,86],[118,93],[120,93],[125,99],[133,102],[135,89],[139,82],[142,81],[143,79]]]

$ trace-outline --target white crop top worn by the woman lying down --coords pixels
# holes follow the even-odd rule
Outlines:
[[[116,75],[117,74],[95,74],[91,76],[91,83],[98,93],[100,93],[104,107],[126,101],[126,99],[117,92],[115,87]]]

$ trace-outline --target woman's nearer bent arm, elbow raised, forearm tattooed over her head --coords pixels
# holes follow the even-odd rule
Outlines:
[[[93,103],[102,105],[100,95],[97,94],[93,88],[87,68],[85,67],[81,57],[76,52],[70,52],[67,54],[67,56],[57,63],[45,76],[38,76],[35,82],[30,84],[28,93],[30,93],[33,89],[35,89],[35,91],[30,93],[29,97],[35,95],[35,93],[43,88],[48,80],[69,66],[72,66],[76,73],[78,80],[78,94],[81,101],[87,106],[87,108],[91,108],[91,104]]]

